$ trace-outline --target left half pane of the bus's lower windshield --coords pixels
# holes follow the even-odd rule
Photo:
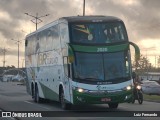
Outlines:
[[[76,53],[74,68],[76,78],[104,79],[102,54]]]

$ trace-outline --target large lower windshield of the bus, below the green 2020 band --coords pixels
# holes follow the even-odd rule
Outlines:
[[[75,53],[74,78],[108,81],[130,77],[127,52]]]

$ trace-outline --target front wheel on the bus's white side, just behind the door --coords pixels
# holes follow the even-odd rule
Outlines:
[[[60,103],[61,103],[62,109],[70,110],[71,109],[71,104],[65,102],[63,89],[61,89],[61,91],[60,91],[60,97],[59,98],[60,98]]]

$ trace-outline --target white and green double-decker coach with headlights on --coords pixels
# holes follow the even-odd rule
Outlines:
[[[35,102],[72,105],[131,102],[130,45],[123,21],[113,16],[71,16],[53,21],[25,38],[26,88]]]

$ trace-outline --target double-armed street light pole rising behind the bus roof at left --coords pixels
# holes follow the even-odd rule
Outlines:
[[[33,22],[34,24],[36,24],[36,30],[37,30],[37,25],[38,25],[39,23],[43,22],[40,18],[49,16],[49,14],[46,14],[46,15],[43,15],[43,16],[38,16],[38,13],[36,13],[36,16],[31,15],[31,14],[29,14],[29,13],[24,13],[24,14],[26,14],[26,15],[34,18],[34,19],[31,20],[31,22]]]

